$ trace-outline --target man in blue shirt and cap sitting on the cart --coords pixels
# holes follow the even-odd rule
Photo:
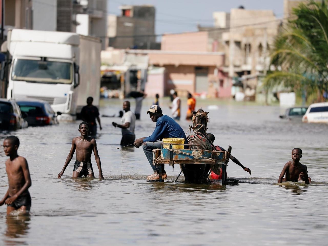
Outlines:
[[[149,137],[142,137],[134,142],[134,146],[139,148],[142,145],[143,151],[149,161],[149,164],[154,170],[154,174],[149,175],[147,180],[159,179],[158,169],[153,165],[153,152],[154,149],[160,149],[162,139],[166,137],[177,137],[184,138],[185,144],[188,144],[186,134],[183,132],[182,128],[178,123],[174,121],[171,117],[163,115],[162,109],[158,105],[150,106],[147,111],[153,122],[156,122],[156,127],[152,135]],[[166,172],[164,170],[164,164],[162,166],[162,178],[167,178]]]

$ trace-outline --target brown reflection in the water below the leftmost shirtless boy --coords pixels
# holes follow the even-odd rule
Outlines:
[[[30,220],[30,216],[7,216],[5,245],[27,245],[26,242],[16,239],[25,237],[25,234],[28,233]]]

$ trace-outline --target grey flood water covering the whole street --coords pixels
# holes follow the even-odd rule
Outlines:
[[[100,113],[118,115],[122,102],[103,100]],[[155,127],[145,113],[150,104],[144,100],[137,138]],[[57,179],[72,138],[79,136],[79,121],[0,133],[1,141],[9,134],[19,137],[18,153],[28,160],[32,178],[31,216],[7,217],[6,205],[0,207],[0,245],[327,245],[328,125],[280,120],[277,106],[221,103],[207,110],[208,103],[198,101],[201,106],[210,111],[207,132],[215,135],[215,144],[230,144],[252,170],[249,175],[229,162],[228,177],[240,179],[239,185],[184,184],[183,175],[174,183],[180,170],[172,172],[169,165],[164,183],[147,183],[152,169],[142,148],[116,149],[117,117],[101,117],[103,130],[98,129],[104,180],[72,179],[75,156]],[[171,115],[167,106],[162,109]],[[180,121],[185,131],[189,124]],[[313,182],[277,185],[295,147],[302,149],[301,163]],[[7,158],[2,150],[1,198],[8,189]],[[92,164],[97,177],[93,155]]]

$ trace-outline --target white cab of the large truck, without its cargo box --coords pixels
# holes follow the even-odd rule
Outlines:
[[[14,29],[7,48],[11,58],[8,99],[42,99],[55,112],[76,113],[78,34]]]

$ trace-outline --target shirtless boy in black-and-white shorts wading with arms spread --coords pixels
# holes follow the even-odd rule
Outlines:
[[[70,154],[68,154],[66,158],[66,162],[62,171],[58,174],[58,178],[60,178],[64,174],[65,169],[73,158],[75,149],[76,161],[73,169],[73,178],[82,177],[83,175],[87,177],[94,177],[91,164],[92,150],[99,169],[99,178],[104,178],[101,171],[101,164],[98,155],[96,140],[94,140],[94,138],[92,137],[89,137],[88,132],[89,124],[85,121],[81,122],[79,125],[79,133],[81,133],[81,136],[73,138]]]

